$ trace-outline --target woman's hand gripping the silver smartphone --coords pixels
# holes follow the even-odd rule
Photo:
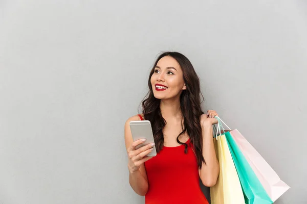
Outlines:
[[[146,157],[146,155],[148,155],[153,150],[153,146],[155,146],[155,143],[150,143],[141,148],[136,149],[136,146],[144,143],[145,141],[145,139],[136,140],[128,147],[128,169],[130,173],[138,171],[141,164],[152,158]]]

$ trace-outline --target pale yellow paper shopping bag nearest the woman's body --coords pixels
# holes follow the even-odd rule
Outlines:
[[[220,131],[219,136],[217,136],[218,131]],[[221,135],[219,126],[214,138],[214,147],[220,163],[220,175],[216,184],[210,188],[211,204],[245,204],[243,191],[225,134]]]

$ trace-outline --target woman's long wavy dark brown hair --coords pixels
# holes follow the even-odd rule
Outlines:
[[[151,75],[155,71],[155,67],[158,61],[165,57],[170,56],[175,59],[182,68],[183,79],[186,84],[186,90],[183,90],[180,95],[180,108],[183,115],[182,132],[177,137],[179,144],[185,145],[185,153],[187,153],[188,146],[179,140],[179,137],[184,133],[187,133],[190,137],[190,144],[196,155],[198,165],[201,168],[202,163],[205,163],[202,154],[202,127],[200,124],[200,117],[204,112],[201,108],[201,96],[200,80],[196,74],[191,62],[184,55],[177,52],[165,52],[162,53],[156,60],[155,65],[150,71],[148,87],[149,91],[142,101],[143,115],[146,120],[151,122],[153,137],[155,138],[156,149],[159,152],[163,148],[163,128],[166,125],[166,120],[162,117],[160,110],[160,99],[155,98],[152,91],[150,82]],[[203,98],[204,99],[204,98]]]

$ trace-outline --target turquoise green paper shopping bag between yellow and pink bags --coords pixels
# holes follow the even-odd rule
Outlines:
[[[222,125],[222,120],[220,118],[216,118],[218,120],[218,125],[222,130],[225,129]],[[225,124],[225,123],[224,123]],[[227,126],[228,127],[228,126]],[[271,204],[273,201],[269,197],[268,193],[261,185],[258,180],[256,174],[252,170],[248,161],[245,159],[244,155],[240,151],[236,142],[231,136],[230,132],[225,132],[226,141],[230,149],[230,154],[232,156],[232,160],[234,162],[236,171],[239,176],[239,180],[241,183],[241,187],[243,190],[245,203],[246,204]]]

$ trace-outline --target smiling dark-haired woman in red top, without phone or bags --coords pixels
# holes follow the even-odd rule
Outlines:
[[[145,203],[208,203],[199,179],[215,185],[219,164],[215,155],[212,124],[215,111],[201,108],[200,81],[191,62],[182,54],[161,54],[148,80],[149,92],[142,102],[143,114],[125,123],[129,184],[145,195]],[[155,144],[135,147],[130,121],[149,120]],[[146,157],[155,145],[156,157]]]

